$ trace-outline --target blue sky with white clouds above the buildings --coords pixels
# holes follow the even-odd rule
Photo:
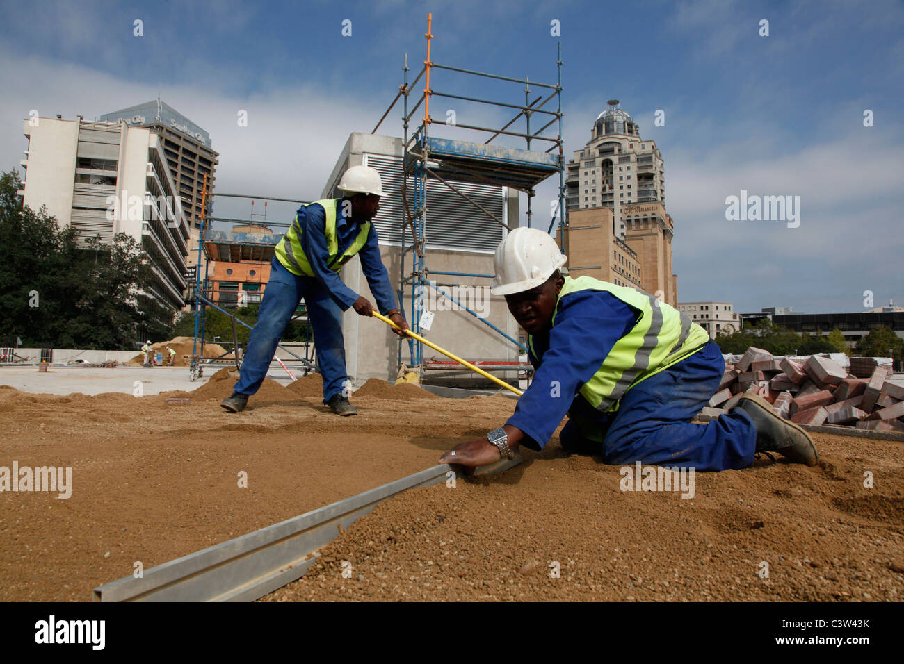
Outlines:
[[[434,61],[545,82],[556,78],[557,20],[566,153],[609,98],[656,142],[681,301],[853,312],[869,290],[876,305],[904,304],[899,2],[4,5],[3,170],[22,156],[31,109],[96,117],[159,94],[211,133],[218,191],[302,200],[319,196],[348,134],[372,130],[405,52],[419,70],[428,12]],[[440,87],[523,101],[518,85],[446,72]],[[507,115],[442,104],[470,124]],[[240,109],[249,126],[237,126]],[[664,126],[653,124],[657,109]],[[863,126],[865,109],[874,126]],[[381,133],[400,134],[399,113]],[[742,189],[801,196],[800,226],[726,220],[725,198]],[[554,195],[544,184],[537,201]],[[248,201],[223,201],[218,216],[247,216]]]

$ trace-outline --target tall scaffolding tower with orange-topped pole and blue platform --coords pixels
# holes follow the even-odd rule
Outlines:
[[[446,187],[451,192],[456,193],[463,199],[463,204],[473,206],[477,210],[485,213],[494,223],[500,224],[504,229],[508,229],[503,220],[496,217],[490,210],[486,210],[478,201],[468,196],[465,192],[460,191],[452,182],[479,182],[484,184],[494,184],[515,189],[519,192],[527,194],[527,223],[530,227],[532,224],[532,205],[531,201],[535,194],[534,187],[555,173],[559,173],[559,204],[558,209],[554,211],[547,233],[551,233],[555,227],[557,218],[560,218],[565,210],[565,159],[563,150],[563,141],[561,136],[562,112],[561,112],[561,42],[558,43],[558,58],[556,67],[558,70],[558,80],[555,84],[541,83],[529,78],[514,79],[507,76],[499,76],[496,74],[485,73],[482,71],[465,70],[458,67],[451,67],[431,59],[431,42],[432,34],[432,14],[428,14],[427,33],[427,59],[424,61],[424,67],[419,71],[415,79],[409,83],[409,67],[408,55],[405,55],[403,71],[403,84],[399,88],[399,94],[393,99],[390,108],[381,117],[380,122],[373,129],[373,133],[379,128],[383,119],[389,115],[392,107],[403,98],[402,126],[404,130],[404,153],[402,159],[402,186],[401,195],[404,204],[405,216],[401,220],[402,226],[402,242],[400,256],[400,290],[399,299],[400,306],[405,309],[405,297],[408,295],[410,301],[410,315],[406,318],[410,321],[413,332],[421,332],[422,318],[422,294],[426,288],[433,288],[438,295],[442,295],[449,302],[455,303],[462,311],[474,316],[478,321],[484,323],[493,329],[494,332],[502,335],[504,339],[516,344],[523,352],[527,352],[527,348],[518,340],[513,339],[503,330],[500,330],[493,323],[489,323],[481,318],[475,311],[460,303],[442,288],[431,284],[428,275],[443,276],[467,276],[476,278],[492,278],[492,275],[467,273],[467,272],[431,272],[427,267],[427,223],[428,223],[428,197],[427,182],[434,180]],[[431,74],[434,70],[454,71],[467,76],[483,77],[485,79],[502,80],[510,83],[519,83],[524,86],[524,103],[513,104],[493,99],[483,99],[456,94],[451,91],[433,89],[434,81],[431,80]],[[411,93],[419,80],[424,78],[423,93],[419,96],[415,103],[411,103]],[[544,94],[531,100],[531,92],[533,88],[544,90]],[[547,94],[548,93],[548,94]],[[509,108],[517,111],[517,114],[502,127],[486,127],[475,125],[463,125],[453,123],[449,125],[446,121],[439,121],[438,124],[444,126],[452,126],[457,130],[471,132],[468,136],[473,136],[474,132],[487,132],[491,136],[485,138],[483,142],[468,142],[462,140],[452,140],[448,138],[440,138],[438,136],[430,136],[430,126],[436,123],[430,116],[430,99],[431,98],[450,98],[458,99],[476,104],[491,105],[499,108]],[[555,110],[543,108],[551,100],[555,99]],[[420,106],[423,105],[423,117],[419,120],[419,125],[409,134],[411,118],[418,112]],[[532,117],[541,117],[542,126],[539,129],[532,130]],[[525,128],[523,131],[516,131],[513,125],[524,118]],[[548,121],[545,121],[547,120]],[[551,127],[555,126],[555,136],[544,136]],[[513,136],[525,141],[525,149],[513,147],[504,147],[501,145],[490,145],[491,141],[497,136]],[[532,149],[534,145],[549,147],[543,151]],[[410,242],[408,238],[410,237]],[[410,260],[408,257],[410,256]],[[420,342],[415,343],[412,339],[408,340],[410,350],[409,369],[419,371],[420,378],[424,378],[424,372],[431,369],[449,369],[445,361],[425,360],[423,347]],[[399,367],[402,366],[402,344],[399,340],[398,353]],[[523,362],[492,362],[491,370],[512,371],[513,369],[531,369],[531,365]]]

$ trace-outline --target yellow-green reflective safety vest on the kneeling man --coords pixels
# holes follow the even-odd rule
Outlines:
[[[553,325],[561,298],[583,290],[605,291],[638,314],[631,331],[616,341],[593,378],[579,390],[589,404],[598,410],[617,410],[618,400],[628,389],[701,350],[710,341],[709,333],[700,325],[692,323],[687,314],[669,304],[658,302],[653,295],[590,276],[565,278],[556,310],[552,314]],[[529,341],[536,357],[533,339]]]

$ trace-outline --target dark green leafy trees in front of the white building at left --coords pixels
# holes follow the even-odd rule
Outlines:
[[[140,336],[169,338],[173,312],[149,295],[155,277],[135,238],[79,241],[0,176],[0,343],[36,348],[134,350]]]

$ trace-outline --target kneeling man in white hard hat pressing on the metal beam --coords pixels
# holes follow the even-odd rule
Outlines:
[[[744,394],[726,415],[692,424],[719,388],[719,346],[653,295],[564,276],[564,265],[542,230],[515,229],[496,248],[490,292],[505,296],[528,333],[536,372],[504,426],[457,444],[440,463],[481,466],[520,445],[541,450],[567,414],[562,448],[599,454],[605,463],[721,471],[777,452],[815,465],[810,436],[755,394]]]

